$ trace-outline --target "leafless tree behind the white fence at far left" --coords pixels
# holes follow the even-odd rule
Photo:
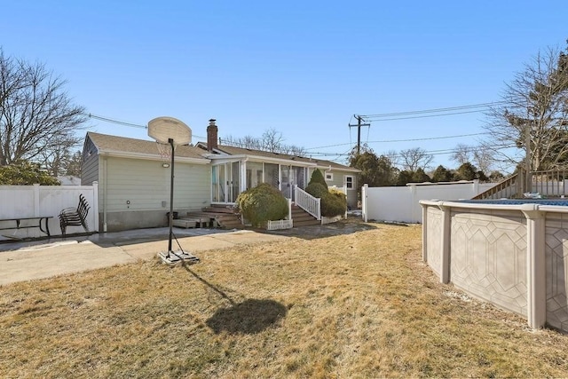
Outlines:
[[[86,120],[71,103],[65,81],[41,63],[29,64],[0,49],[0,166],[56,156],[79,142],[75,131]]]

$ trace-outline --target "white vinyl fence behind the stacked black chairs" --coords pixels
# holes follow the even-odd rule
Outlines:
[[[0,220],[18,217],[52,217],[49,219],[51,236],[60,235],[59,212],[65,208],[77,208],[79,195],[83,193],[89,202],[87,225],[90,232],[99,232],[99,189],[92,186],[0,186]],[[22,224],[25,221],[22,221]],[[14,222],[0,221],[0,227],[10,227]],[[67,234],[83,233],[82,226],[67,226]],[[28,238],[45,234],[39,228],[22,228],[0,231],[4,236]]]

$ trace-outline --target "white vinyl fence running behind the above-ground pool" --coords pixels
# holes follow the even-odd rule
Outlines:
[[[409,183],[406,186],[361,188],[362,217],[367,220],[422,223],[421,200],[471,199],[495,186],[478,180]]]

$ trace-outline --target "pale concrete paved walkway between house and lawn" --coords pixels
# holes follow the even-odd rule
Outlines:
[[[174,234],[184,251],[197,257],[200,251],[288,238],[285,234],[220,229],[175,229]],[[169,228],[154,228],[69,237],[65,241],[1,243],[0,285],[153,259],[168,251],[169,236]],[[174,251],[177,241],[172,241]]]

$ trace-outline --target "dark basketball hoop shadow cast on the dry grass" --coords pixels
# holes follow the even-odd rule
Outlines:
[[[197,280],[213,289],[217,294],[227,300],[231,305],[217,310],[207,321],[207,326],[216,334],[226,331],[229,334],[256,334],[270,327],[286,316],[288,309],[274,300],[247,299],[242,303],[235,303],[223,290],[217,288],[209,281],[204,280],[197,273],[190,270],[189,265],[182,264]]]

